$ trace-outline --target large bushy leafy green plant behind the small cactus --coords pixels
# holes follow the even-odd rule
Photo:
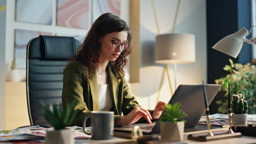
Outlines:
[[[222,91],[225,91],[225,97],[228,95],[228,82],[230,81],[230,94],[241,93],[245,95],[245,100],[248,103],[248,113],[256,113],[256,68],[255,65],[247,63],[242,65],[240,63],[234,64],[231,59],[229,59],[230,65],[225,65],[223,68],[229,71],[230,74],[215,80],[217,84],[222,85]],[[220,113],[228,112],[228,100],[221,101],[218,100],[216,103],[219,106],[218,111]]]

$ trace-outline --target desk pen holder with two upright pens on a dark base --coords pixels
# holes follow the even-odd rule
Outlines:
[[[241,137],[241,133],[234,133],[231,129],[231,106],[230,106],[230,91],[228,94],[228,107],[229,107],[229,130],[228,131],[211,131],[211,123],[210,123],[210,113],[208,108],[208,100],[207,100],[207,93],[205,89],[205,84],[203,82],[203,92],[205,95],[205,106],[206,106],[206,116],[207,116],[207,128],[208,133],[200,133],[200,134],[191,134],[188,135],[189,140],[197,140],[197,141],[215,141],[215,140],[223,140],[223,139],[231,139],[234,137]]]

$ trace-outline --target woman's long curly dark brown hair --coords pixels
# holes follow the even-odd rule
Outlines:
[[[96,63],[100,63],[98,58],[100,57],[101,45],[98,43],[100,38],[112,32],[127,31],[127,41],[131,42],[130,28],[126,22],[111,13],[102,14],[93,23],[90,31],[86,35],[83,44],[80,45],[78,52],[74,57],[74,61],[80,61],[88,67],[88,78],[92,79],[92,73],[96,70]],[[131,47],[123,50],[119,57],[110,62],[112,67],[118,72],[118,79],[124,76],[124,67],[127,63],[127,56],[131,53]]]

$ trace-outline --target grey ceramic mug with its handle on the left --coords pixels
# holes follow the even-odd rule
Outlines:
[[[91,118],[91,132],[86,130],[86,121]],[[91,135],[92,140],[110,140],[114,137],[114,112],[92,111],[83,122],[85,134]]]

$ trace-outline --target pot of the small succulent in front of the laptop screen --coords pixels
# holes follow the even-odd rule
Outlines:
[[[160,134],[162,141],[183,141],[183,133],[184,122],[160,122]]]

